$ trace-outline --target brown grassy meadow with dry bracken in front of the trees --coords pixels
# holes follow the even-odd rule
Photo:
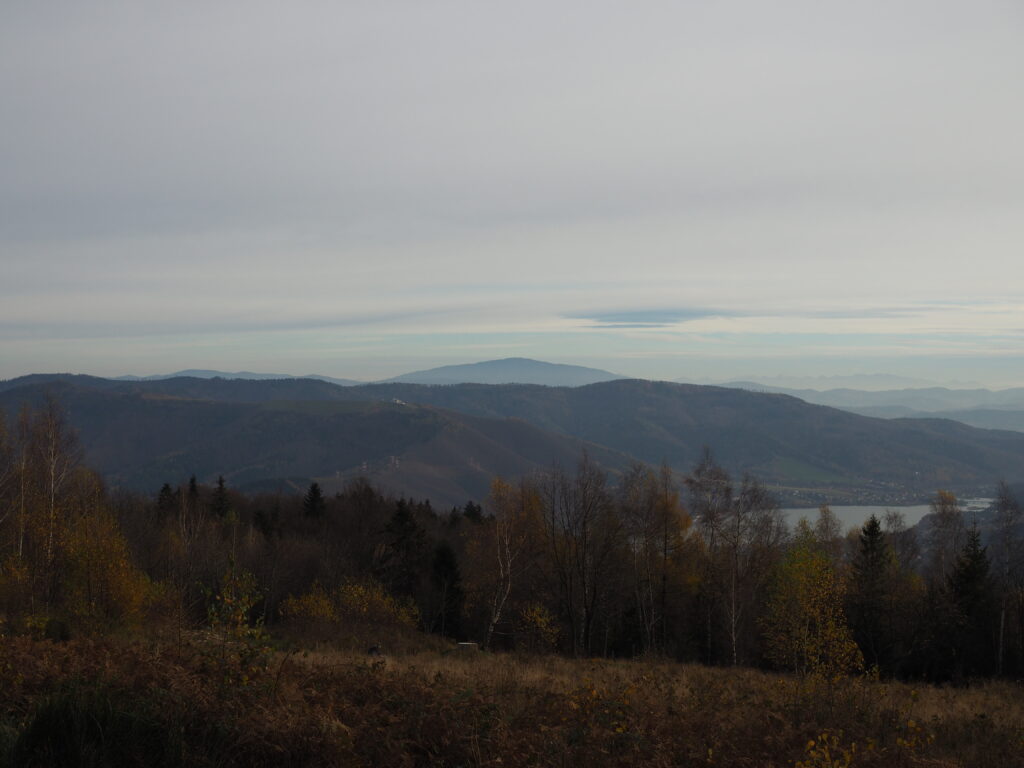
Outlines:
[[[0,766],[1024,765],[1020,685],[0,640]]]

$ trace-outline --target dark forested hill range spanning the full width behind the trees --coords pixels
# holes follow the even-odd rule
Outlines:
[[[760,477],[790,502],[898,503],[939,487],[973,493],[1000,477],[1024,479],[1021,433],[945,419],[874,419],[723,387],[78,377],[29,384],[5,383],[0,403],[13,408],[47,386],[62,390],[94,463],[130,484],[187,471],[232,474],[238,483],[344,477],[366,464],[411,494],[439,498],[458,488],[465,496],[483,487],[484,475],[519,474],[553,458],[571,464],[585,443],[592,453],[603,446],[596,458],[612,468],[628,456],[683,472],[708,445],[731,472]]]

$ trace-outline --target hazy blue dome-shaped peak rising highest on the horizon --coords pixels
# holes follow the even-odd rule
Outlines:
[[[441,366],[395,376],[377,383],[397,384],[538,384],[548,387],[581,387],[627,377],[583,366],[544,362],[528,357]]]

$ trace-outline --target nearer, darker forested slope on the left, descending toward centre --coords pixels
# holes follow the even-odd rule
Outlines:
[[[276,382],[262,383],[274,391]],[[317,479],[327,490],[364,475],[392,493],[447,506],[483,499],[496,475],[570,466],[584,450],[612,472],[630,462],[521,421],[372,400],[225,402],[66,381],[0,392],[0,409],[12,414],[47,394],[67,410],[90,466],[116,485],[146,492],[191,474],[208,482],[222,474],[237,487],[304,488]]]

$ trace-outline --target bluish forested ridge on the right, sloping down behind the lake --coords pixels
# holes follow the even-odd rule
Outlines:
[[[370,386],[346,394],[512,416],[681,470],[709,445],[730,470],[788,487],[859,487],[897,499],[901,488],[920,495],[1024,475],[1018,433],[941,419],[871,419],[722,387],[628,380],[573,389]]]

